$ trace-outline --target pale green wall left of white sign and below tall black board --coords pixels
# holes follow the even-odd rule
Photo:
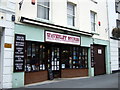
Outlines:
[[[26,35],[26,40],[44,42],[44,29],[37,26],[15,24],[15,34]],[[13,73],[12,81],[13,88],[23,87],[24,72]]]

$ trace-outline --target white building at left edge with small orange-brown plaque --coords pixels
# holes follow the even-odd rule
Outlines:
[[[0,0],[0,89],[12,87],[14,16],[14,0]]]

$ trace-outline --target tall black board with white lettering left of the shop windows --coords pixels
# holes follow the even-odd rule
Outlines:
[[[14,72],[24,71],[25,35],[15,34]]]

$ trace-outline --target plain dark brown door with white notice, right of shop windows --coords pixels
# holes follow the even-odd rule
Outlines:
[[[94,74],[101,75],[106,73],[105,68],[105,46],[93,45],[94,47]]]

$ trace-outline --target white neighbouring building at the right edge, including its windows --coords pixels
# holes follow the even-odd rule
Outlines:
[[[112,30],[120,28],[120,1],[108,0],[108,16],[109,16],[109,30],[110,30],[110,49],[111,49],[111,72],[118,71],[120,68],[120,40],[114,38]]]

